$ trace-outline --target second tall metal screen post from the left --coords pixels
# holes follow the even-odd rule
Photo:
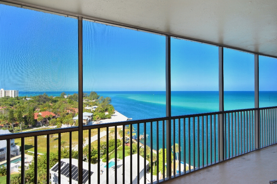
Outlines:
[[[166,177],[171,179],[171,68],[170,68],[170,35],[166,41]]]

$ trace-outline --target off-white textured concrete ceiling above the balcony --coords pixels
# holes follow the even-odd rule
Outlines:
[[[276,0],[16,0],[277,57]]]

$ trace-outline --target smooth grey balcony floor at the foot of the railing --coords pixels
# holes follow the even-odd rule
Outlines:
[[[233,158],[166,183],[267,184],[273,179],[277,179],[277,145]]]

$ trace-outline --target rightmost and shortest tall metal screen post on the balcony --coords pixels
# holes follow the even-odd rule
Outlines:
[[[255,108],[259,108],[259,55],[254,54],[254,89],[255,89]],[[260,111],[255,110],[255,119],[254,119],[254,140],[255,140],[255,149],[259,149],[261,147],[260,144]]]

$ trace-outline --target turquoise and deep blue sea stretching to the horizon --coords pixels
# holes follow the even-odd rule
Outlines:
[[[90,93],[89,91],[85,91]],[[19,96],[36,96],[39,94],[46,93],[48,96],[60,96],[61,92],[19,92]],[[65,91],[66,94],[73,94],[77,92]],[[100,96],[111,97],[111,104],[114,106],[115,110],[119,113],[125,115],[132,120],[138,119],[149,119],[157,117],[166,117],[166,92],[165,91],[98,91]],[[259,104],[260,107],[272,107],[277,106],[277,91],[260,91],[259,92]],[[248,109],[254,108],[254,91],[225,91],[224,92],[224,110],[235,110],[235,109]],[[172,91],[171,92],[171,115],[188,115],[188,114],[199,114],[207,112],[219,111],[219,94],[218,91]],[[181,119],[181,125],[183,124]],[[201,121],[200,121],[201,123]],[[186,122],[187,126],[188,122]],[[216,119],[217,124],[217,119]],[[175,122],[175,139],[178,143],[178,124]],[[140,124],[139,134],[137,133],[137,124],[134,124],[134,129],[137,135],[142,135],[143,124]],[[217,126],[217,125],[216,125]],[[158,122],[158,131],[156,130],[156,122],[152,124],[146,123],[146,133],[147,139],[146,144],[150,146],[150,140],[152,135],[153,149],[158,150],[162,148],[162,122]],[[200,126],[201,128],[201,126]],[[166,127],[165,127],[166,129]],[[171,127],[173,132],[173,126]],[[197,131],[197,127],[196,130]],[[158,133],[158,147],[157,147],[157,133]],[[183,126],[180,129],[181,138],[184,137]],[[186,134],[187,140],[188,134]],[[213,136],[213,135],[212,135]],[[210,135],[208,132],[208,139]],[[165,137],[166,140],[166,137]],[[217,130],[216,130],[216,140],[217,140]],[[173,138],[171,139],[173,145]],[[143,141],[141,140],[141,143]],[[201,145],[200,140],[200,145]],[[166,147],[166,143],[165,147]],[[183,145],[183,139],[180,140],[180,145]],[[205,145],[205,144],[204,144]],[[193,145],[191,145],[192,147]],[[186,141],[186,147],[188,147],[188,141]],[[196,148],[197,149],[197,148]],[[206,149],[206,147],[204,147]],[[208,150],[210,148],[208,147]],[[181,155],[184,155],[184,149],[181,146]],[[188,150],[186,149],[186,152]],[[217,151],[217,148],[216,148]],[[201,150],[200,150],[201,152]],[[196,150],[197,153],[197,150]],[[188,153],[186,153],[188,155]],[[176,155],[177,157],[177,155]],[[188,157],[188,156],[187,156]],[[214,156],[212,156],[214,159]],[[184,158],[179,158],[184,162]],[[188,162],[186,158],[186,162]],[[202,158],[200,157],[200,163]],[[205,159],[205,158],[204,158]],[[196,166],[197,166],[196,158]]]

